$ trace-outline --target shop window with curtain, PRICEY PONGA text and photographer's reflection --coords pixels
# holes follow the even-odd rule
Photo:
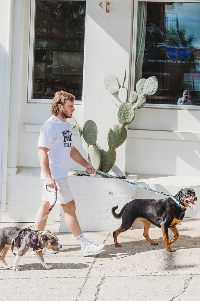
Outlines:
[[[159,83],[146,103],[198,108],[200,3],[138,1],[135,18],[135,84],[150,76]]]

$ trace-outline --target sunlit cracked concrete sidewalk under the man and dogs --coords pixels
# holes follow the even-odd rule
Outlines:
[[[119,225],[121,221],[119,221]],[[0,223],[0,228],[31,224]],[[6,270],[0,263],[1,300],[67,301],[190,301],[200,299],[200,218],[185,218],[178,225],[180,237],[168,252],[161,229],[152,227],[149,236],[158,242],[152,246],[142,229],[121,233],[115,248],[112,231],[85,232],[85,237],[105,243],[99,255],[84,257],[71,233],[59,233],[58,223],[47,223],[63,245],[59,253],[45,255],[52,270],[42,268],[37,256],[25,254],[19,272]],[[169,230],[169,237],[173,234]],[[6,262],[13,264],[9,249]]]

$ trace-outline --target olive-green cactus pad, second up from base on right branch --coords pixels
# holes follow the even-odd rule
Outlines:
[[[115,124],[113,129],[108,132],[108,145],[109,148],[115,149],[119,147],[127,138],[127,130],[121,124]]]

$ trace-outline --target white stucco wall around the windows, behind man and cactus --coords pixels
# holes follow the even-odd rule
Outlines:
[[[95,121],[98,128],[97,145],[105,151],[108,150],[107,133],[109,128],[118,123],[117,111],[121,102],[117,95],[112,95],[105,89],[103,77],[106,73],[114,73],[121,83],[125,67],[125,87],[130,88],[132,2],[115,0],[111,2],[110,13],[106,14],[106,2],[102,2],[102,9],[99,1],[87,0],[84,102],[75,105],[74,116],[81,127],[88,119]],[[4,141],[9,1],[1,0],[0,3],[0,135],[1,141]],[[7,210],[0,213],[3,221],[33,221],[40,204],[37,141],[39,127],[50,117],[51,106],[27,102],[30,3],[30,0],[13,1]],[[200,193],[199,125],[199,110],[146,107],[137,110],[135,119],[127,127],[126,142],[116,150],[117,160],[112,171],[116,174],[148,174],[148,177],[141,176],[139,179],[148,186],[159,185],[160,190],[165,187],[170,193],[176,193],[176,189],[185,184],[193,185]],[[73,129],[73,135],[76,147],[86,158],[86,145],[78,137],[76,129]],[[4,156],[3,150],[4,145],[0,143],[0,158]],[[2,161],[0,160],[0,165],[3,164]],[[70,162],[70,169],[79,168],[76,163]],[[154,177],[157,185],[152,184],[149,179],[154,174],[165,175],[165,183],[169,181],[174,185],[163,184],[163,176]],[[175,178],[172,180],[171,176]],[[1,186],[2,175],[0,190]],[[137,197],[140,197],[140,193],[142,195],[139,192]],[[50,219],[59,219],[58,209],[55,209]]]

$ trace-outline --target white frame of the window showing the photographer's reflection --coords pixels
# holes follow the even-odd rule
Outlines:
[[[130,88],[134,91],[135,87],[135,73],[136,73],[136,41],[137,41],[137,12],[138,12],[138,2],[156,2],[157,0],[134,0],[133,7],[133,35],[132,35],[132,55],[131,55],[131,79]],[[190,2],[190,3],[200,3],[200,0],[159,0],[159,2]],[[200,106],[190,106],[190,105],[179,105],[179,104],[145,104],[144,108],[157,108],[157,109],[190,109],[190,110],[200,110]]]

